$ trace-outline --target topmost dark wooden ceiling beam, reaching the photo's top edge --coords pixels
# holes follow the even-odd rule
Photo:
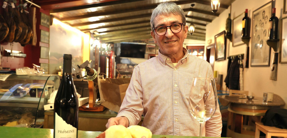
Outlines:
[[[80,10],[80,9],[85,9],[85,8],[94,8],[94,7],[100,7],[100,6],[109,6],[109,5],[115,5],[115,4],[124,4],[124,3],[130,3],[130,2],[135,2],[135,1],[143,1],[143,0],[109,1],[109,2],[89,4],[89,5],[83,5],[83,6],[75,6],[75,7],[69,7],[69,8],[52,9],[52,10],[50,10],[50,13],[73,11],[73,10]]]

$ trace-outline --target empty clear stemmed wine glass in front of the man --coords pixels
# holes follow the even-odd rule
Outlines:
[[[209,120],[217,108],[216,84],[213,78],[193,78],[189,92],[189,111],[200,122],[200,138],[202,124]]]

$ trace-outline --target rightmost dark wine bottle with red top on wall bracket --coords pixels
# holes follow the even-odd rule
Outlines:
[[[275,16],[276,8],[272,9],[272,16],[269,19],[269,39],[278,39],[278,18]]]

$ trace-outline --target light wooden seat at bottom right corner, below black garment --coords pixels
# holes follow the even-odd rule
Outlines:
[[[266,134],[266,138],[271,138],[271,136],[287,138],[287,130],[286,129],[280,129],[277,127],[265,126],[261,122],[255,122],[255,124],[256,124],[256,130],[255,130],[255,137],[254,138],[259,138],[260,131],[262,131],[264,134]]]

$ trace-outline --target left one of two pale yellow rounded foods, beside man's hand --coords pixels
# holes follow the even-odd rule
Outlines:
[[[105,138],[132,138],[129,130],[122,125],[113,125],[105,131]]]

